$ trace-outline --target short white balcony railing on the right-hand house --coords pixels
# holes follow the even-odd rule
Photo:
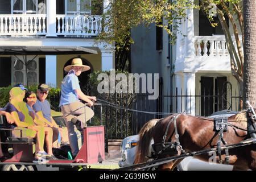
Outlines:
[[[195,36],[196,56],[228,56],[225,36]]]

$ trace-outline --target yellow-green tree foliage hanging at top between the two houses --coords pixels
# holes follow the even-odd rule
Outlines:
[[[101,0],[98,0],[101,1]],[[174,43],[174,32],[179,27],[181,20],[185,18],[185,10],[196,8],[190,0],[117,0],[110,1],[103,15],[104,30],[97,40],[117,43],[117,49],[134,42],[130,36],[130,29],[141,24],[148,26],[154,23],[163,27],[171,36]],[[163,22],[163,17],[166,21]],[[174,24],[175,23],[175,24]],[[173,29],[170,25],[174,24]]]

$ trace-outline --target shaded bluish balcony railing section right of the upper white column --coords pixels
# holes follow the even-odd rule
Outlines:
[[[97,36],[101,32],[101,16],[57,15],[57,35]]]

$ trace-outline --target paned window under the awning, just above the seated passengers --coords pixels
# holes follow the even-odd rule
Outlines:
[[[19,59],[18,59],[19,58]],[[11,71],[11,82],[15,84],[25,84],[27,85],[27,78],[28,84],[38,84],[39,80],[39,65],[38,65],[38,58],[32,60],[33,57],[27,57],[27,75],[26,75],[26,66],[24,64],[23,57],[13,57],[11,61],[12,71]]]

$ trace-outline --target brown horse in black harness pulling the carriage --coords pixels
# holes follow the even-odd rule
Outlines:
[[[256,169],[256,114],[253,107],[230,117],[172,114],[147,122],[139,133],[135,164],[120,168],[174,169],[184,158]],[[150,144],[152,144],[152,152]]]

